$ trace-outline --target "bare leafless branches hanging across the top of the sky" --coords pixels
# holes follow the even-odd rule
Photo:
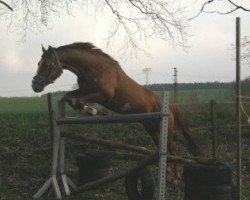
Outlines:
[[[6,0],[7,1],[7,0]],[[7,4],[0,1],[8,9],[13,9],[11,17],[6,9],[0,6],[0,19],[9,19],[12,27],[17,27],[22,32],[22,39],[32,29],[49,27],[53,15],[72,14],[74,8],[79,8],[85,13],[110,13],[114,22],[108,32],[107,43],[115,40],[117,35],[123,35],[123,47],[140,49],[140,41],[145,43],[149,38],[160,37],[173,46],[186,45],[187,23],[190,19],[185,11],[192,9],[184,6],[181,0],[9,0]],[[237,10],[249,12],[248,8],[238,5],[232,0],[193,0],[201,3],[198,13],[230,14]],[[236,1],[236,0],[235,0]],[[229,10],[220,11],[211,7],[216,2],[223,2],[230,6]],[[209,10],[207,7],[209,6]]]

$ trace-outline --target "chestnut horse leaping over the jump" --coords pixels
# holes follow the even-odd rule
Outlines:
[[[35,92],[53,83],[63,70],[77,76],[79,89],[65,94],[64,100],[73,108],[82,109],[87,103],[99,103],[118,113],[148,113],[160,111],[161,97],[132,80],[112,57],[91,43],[73,43],[48,50],[42,47],[43,55],[32,80]],[[154,143],[159,144],[159,124],[143,124]],[[169,107],[168,150],[178,155],[173,132],[176,126],[182,129],[190,150],[200,152],[186,128],[186,120],[173,105]],[[179,177],[179,172],[175,172]]]

